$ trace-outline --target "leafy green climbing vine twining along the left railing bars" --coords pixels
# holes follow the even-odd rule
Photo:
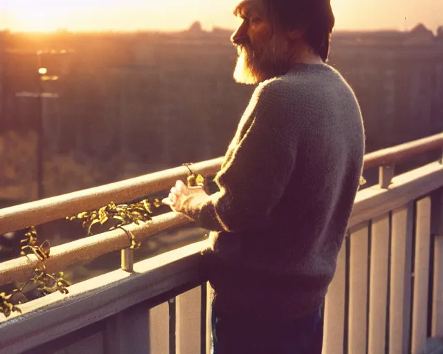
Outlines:
[[[190,169],[191,164],[183,164],[190,171],[187,178],[188,187],[201,186],[206,187],[205,178],[201,175],[196,175]],[[87,233],[87,236],[94,234],[94,230],[98,232],[111,231],[120,228],[126,232],[129,236],[130,245],[129,248],[136,249],[141,247],[141,243],[137,242],[134,234],[127,230],[124,226],[135,223],[145,223],[152,220],[154,215],[154,209],[161,207],[161,201],[154,199],[143,199],[138,203],[121,204],[111,202],[105,207],[101,207],[97,210],[90,212],[82,212],[76,216],[68,216],[66,220],[69,221],[82,221],[82,227]],[[34,254],[38,259],[38,266],[34,270],[34,276],[28,281],[25,281],[19,288],[12,290],[10,294],[6,292],[0,292],[0,313],[3,313],[6,317],[9,317],[11,313],[21,313],[16,301],[12,301],[16,294],[20,294],[25,301],[18,301],[18,304],[26,302],[25,290],[28,286],[33,286],[41,295],[48,295],[56,291],[60,291],[62,294],[68,294],[68,287],[71,283],[64,279],[63,272],[57,272],[49,274],[46,272],[46,260],[51,257],[51,245],[48,240],[39,244],[38,234],[35,227],[30,227],[25,234],[25,239],[21,240],[21,252],[22,256],[28,257],[30,254]]]

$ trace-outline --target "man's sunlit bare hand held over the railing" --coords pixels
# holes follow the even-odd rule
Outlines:
[[[169,205],[174,212],[192,216],[193,210],[208,201],[208,198],[210,196],[202,187],[188,187],[181,180],[177,180],[168,198],[163,199],[162,203]]]

